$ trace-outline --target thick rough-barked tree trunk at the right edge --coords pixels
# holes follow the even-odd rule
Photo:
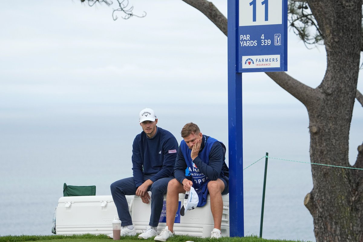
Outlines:
[[[308,3],[324,33],[327,53],[325,77],[315,89],[319,101],[306,105],[310,159],[350,167],[348,140],[359,72],[362,1]],[[363,171],[321,165],[312,165],[311,171],[314,186],[304,203],[314,218],[317,241],[363,241]]]

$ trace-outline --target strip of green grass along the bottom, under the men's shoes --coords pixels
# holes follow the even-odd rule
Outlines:
[[[61,241],[60,241],[61,240]],[[0,236],[0,242],[26,242],[26,241],[41,241],[41,242],[112,242],[113,239],[107,238],[107,235],[20,235],[20,236]],[[120,242],[139,242],[144,241],[137,238],[137,235],[131,237],[123,237]],[[153,238],[146,239],[148,241],[154,241]],[[223,237],[220,239],[211,238],[199,238],[186,235],[175,235],[174,237],[168,239],[168,242],[308,242],[302,240],[283,240],[283,239],[264,239],[257,236],[248,237]]]

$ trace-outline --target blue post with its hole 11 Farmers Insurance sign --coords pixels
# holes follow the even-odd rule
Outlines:
[[[287,0],[228,0],[229,235],[244,236],[242,72],[287,71]]]

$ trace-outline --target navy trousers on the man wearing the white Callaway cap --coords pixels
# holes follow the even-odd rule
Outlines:
[[[152,175],[144,175],[143,180],[148,180]],[[151,215],[149,225],[157,227],[159,225],[160,214],[163,209],[164,194],[167,192],[168,182],[174,177],[166,177],[155,181],[149,188],[151,191]],[[121,220],[121,226],[132,225],[129,213],[129,205],[125,195],[135,195],[136,187],[134,177],[128,177],[115,181],[111,184],[111,195],[117,208],[118,217]],[[134,211],[138,213],[141,211]]]

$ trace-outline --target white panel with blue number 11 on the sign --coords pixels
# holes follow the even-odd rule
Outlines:
[[[239,26],[282,24],[282,0],[239,0]]]

